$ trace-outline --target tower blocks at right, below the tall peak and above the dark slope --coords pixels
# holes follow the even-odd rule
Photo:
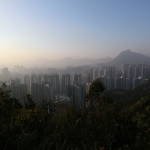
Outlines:
[[[121,70],[113,66],[100,66],[89,69],[89,83],[97,77],[101,79],[106,90],[131,90],[146,83],[150,79],[150,66],[144,64],[122,64]]]

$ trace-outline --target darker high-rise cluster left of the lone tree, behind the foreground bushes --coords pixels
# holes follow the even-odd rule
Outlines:
[[[9,79],[8,89],[11,90],[10,96],[19,99],[22,104],[25,95],[31,94],[37,104],[44,99],[55,102],[58,97],[69,96],[79,107],[84,106],[84,86],[81,85],[81,74],[77,73],[73,75],[72,83],[69,73],[61,77],[57,73],[25,75],[23,84],[19,78]]]

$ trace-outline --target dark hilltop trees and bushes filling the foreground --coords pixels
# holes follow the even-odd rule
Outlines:
[[[102,84],[95,85],[103,88]],[[142,89],[145,89],[144,85]],[[140,92],[137,94],[140,95]],[[75,105],[57,105],[50,107],[48,112],[47,105],[51,106],[50,102],[36,106],[28,95],[23,108],[17,99],[10,98],[9,91],[3,85],[0,89],[0,149],[150,148],[150,93],[146,92],[144,97],[126,105],[113,102],[107,94],[101,94],[100,97],[95,94],[93,100],[98,103],[81,110],[77,110]]]

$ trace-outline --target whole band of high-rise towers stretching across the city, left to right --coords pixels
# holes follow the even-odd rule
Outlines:
[[[1,76],[4,81],[7,79],[11,97],[16,97],[22,104],[27,94],[31,94],[37,104],[41,104],[44,99],[54,102],[67,96],[81,108],[85,105],[85,93],[96,78],[100,78],[106,90],[130,90],[150,79],[150,66],[122,64],[121,70],[116,70],[114,66],[99,65],[97,68],[84,69],[80,73],[32,73],[24,75],[23,81],[19,77],[10,78],[8,68],[3,68]]]

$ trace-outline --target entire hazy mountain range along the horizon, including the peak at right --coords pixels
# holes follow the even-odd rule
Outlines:
[[[114,59],[110,57],[89,59],[89,58],[71,58],[66,57],[61,60],[39,59],[34,62],[28,62],[28,66],[44,66],[44,67],[66,67],[66,66],[95,66],[97,63],[105,63],[106,65],[121,67],[122,63],[125,64],[150,64],[150,57],[140,53],[132,52],[130,50],[122,51]]]

